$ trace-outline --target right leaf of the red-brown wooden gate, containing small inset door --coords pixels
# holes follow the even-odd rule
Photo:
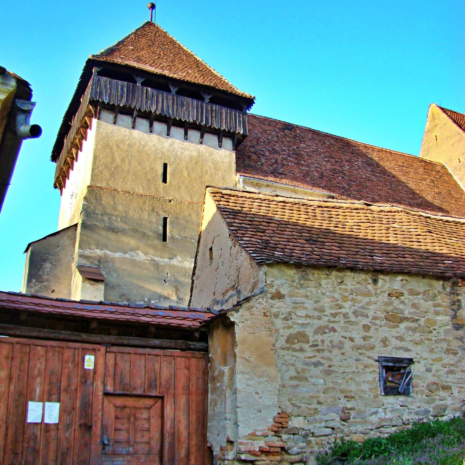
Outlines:
[[[107,347],[104,464],[209,465],[207,354]]]

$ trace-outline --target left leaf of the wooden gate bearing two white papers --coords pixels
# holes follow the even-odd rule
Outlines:
[[[0,463],[92,462],[93,414],[98,414],[93,409],[93,388],[98,375],[96,369],[84,369],[84,357],[93,355],[97,360],[100,352],[100,346],[94,345],[0,339]],[[44,422],[45,409],[40,422],[28,423],[30,401],[42,406],[59,402],[58,423]]]

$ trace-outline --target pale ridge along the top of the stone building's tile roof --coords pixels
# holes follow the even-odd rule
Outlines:
[[[386,212],[406,212],[412,215],[424,216],[432,219],[440,219],[443,221],[452,221],[452,222],[465,222],[465,217],[458,217],[453,215],[442,215],[440,213],[427,212],[425,210],[419,210],[418,208],[410,208],[404,205],[398,205],[393,203],[375,203],[365,200],[354,200],[354,199],[324,199],[324,198],[315,198],[315,199],[306,199],[300,197],[285,197],[283,195],[275,193],[257,193],[252,191],[243,191],[239,188],[234,187],[218,187],[218,186],[206,186],[207,191],[216,192],[216,193],[225,193],[230,191],[231,193],[243,194],[248,197],[254,197],[258,199],[270,198],[275,201],[282,203],[294,203],[300,205],[309,205],[309,206],[325,206],[325,204],[332,204],[333,206],[344,206],[349,208],[358,208],[358,207],[368,207],[375,209],[378,208],[380,211]]]

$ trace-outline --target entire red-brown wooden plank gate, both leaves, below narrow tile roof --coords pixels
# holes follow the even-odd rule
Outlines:
[[[210,464],[206,393],[205,353],[1,338],[0,463]]]

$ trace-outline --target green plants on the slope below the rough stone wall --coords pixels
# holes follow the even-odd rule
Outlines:
[[[448,421],[414,423],[412,428],[360,444],[338,441],[320,454],[319,465],[462,465],[465,416]]]

